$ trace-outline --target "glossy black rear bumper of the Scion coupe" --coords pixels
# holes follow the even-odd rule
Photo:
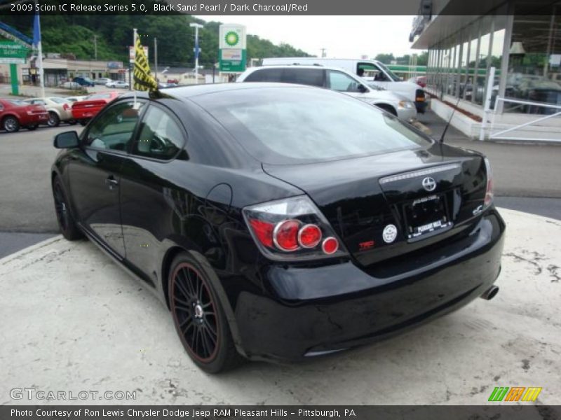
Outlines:
[[[388,337],[482,295],[501,270],[505,225],[489,211],[461,251],[411,272],[377,278],[352,261],[323,267],[271,265],[266,295],[241,292],[235,307],[249,358],[298,360]]]

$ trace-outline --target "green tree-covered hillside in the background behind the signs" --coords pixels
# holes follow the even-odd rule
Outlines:
[[[32,15],[5,16],[2,22],[24,34],[32,34]],[[217,62],[220,22],[205,22],[189,15],[41,15],[43,52],[71,54],[76,59],[94,59],[94,36],[97,59],[128,61],[128,45],[133,43],[133,30],[138,29],[143,45],[154,57],[154,37],[158,39],[158,63],[166,66],[194,66],[194,30],[189,23],[204,25],[199,31],[199,63],[212,66]],[[249,58],[306,56],[306,52],[248,34]]]

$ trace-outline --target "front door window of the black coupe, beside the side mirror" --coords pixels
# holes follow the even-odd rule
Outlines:
[[[141,103],[140,109],[134,109],[133,101],[111,106],[90,125],[85,139],[86,146],[126,151],[142,106]]]

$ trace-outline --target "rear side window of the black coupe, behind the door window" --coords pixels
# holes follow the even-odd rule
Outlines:
[[[151,106],[142,120],[140,134],[133,144],[133,155],[169,160],[184,143],[183,131],[175,120],[156,106]]]

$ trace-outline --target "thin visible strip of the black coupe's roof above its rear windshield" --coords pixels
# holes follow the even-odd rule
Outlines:
[[[266,88],[280,88],[286,89],[287,87],[299,87],[302,89],[318,89],[317,87],[296,85],[292,83],[209,83],[206,85],[189,85],[167,87],[163,96],[175,97],[177,99],[188,99],[197,97],[203,94],[217,93],[217,92],[232,92],[234,90],[250,90],[250,89],[266,89]],[[133,92],[123,94],[122,98],[134,97]],[[147,92],[137,92],[138,97],[148,97]]]

